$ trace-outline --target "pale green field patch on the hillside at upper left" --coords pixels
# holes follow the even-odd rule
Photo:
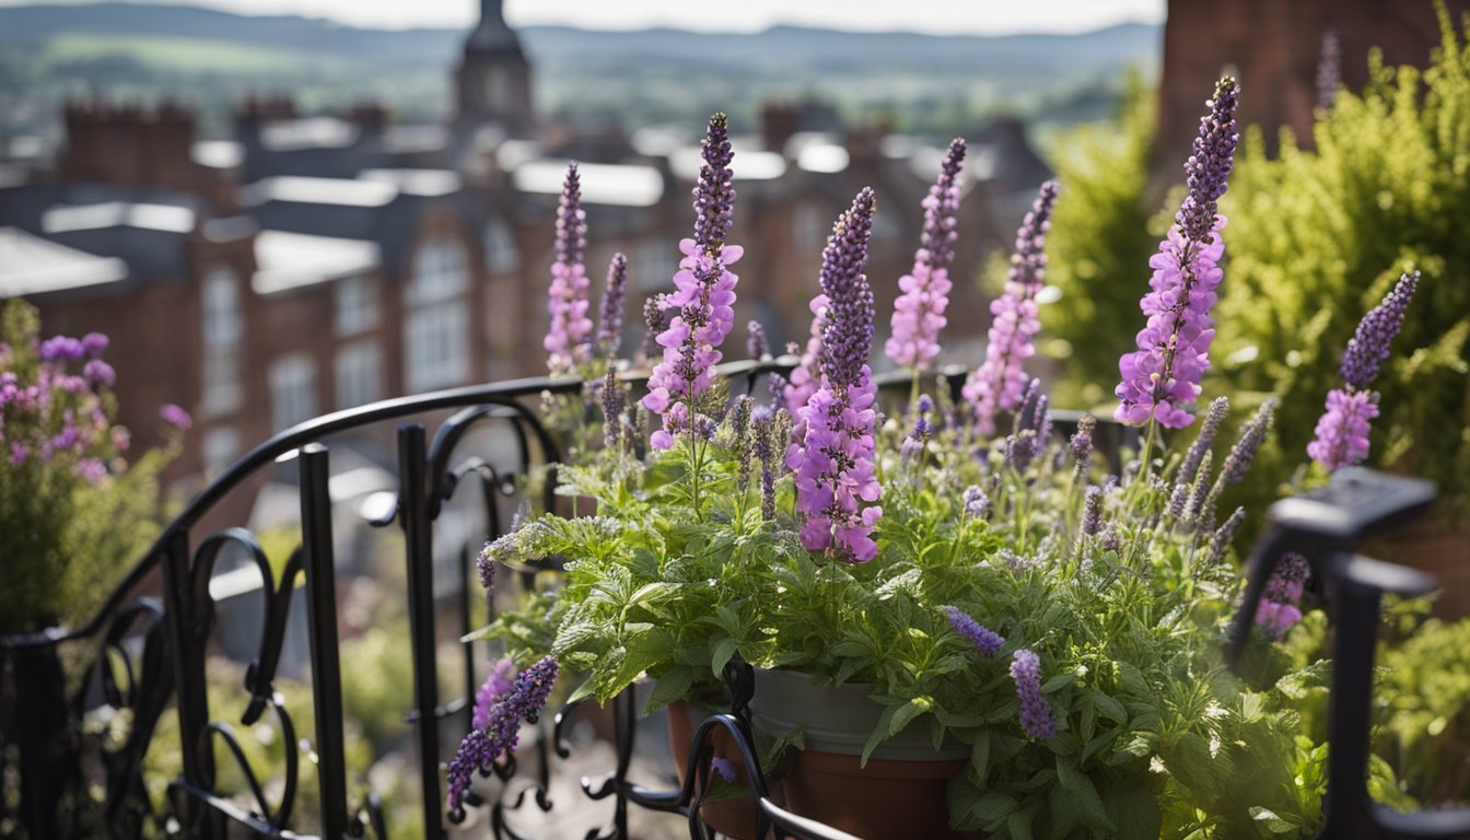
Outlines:
[[[248,47],[207,38],[91,32],[57,35],[50,40],[44,53],[44,60],[49,63],[90,62],[104,57],[132,59],[154,71],[231,75],[285,75],[313,69],[335,69],[343,63],[291,50]]]

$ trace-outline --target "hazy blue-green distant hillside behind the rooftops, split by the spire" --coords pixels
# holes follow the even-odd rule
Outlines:
[[[628,122],[753,119],[763,99],[822,99],[942,128],[1004,107],[1063,121],[1105,110],[1123,68],[1152,74],[1157,26],[1082,35],[920,35],[776,26],[756,34],[528,26],[538,107]],[[448,110],[460,29],[359,29],[300,16],[96,3],[0,7],[0,134],[53,119],[66,96],[175,96],[222,118],[247,91],[290,90],[307,109],[362,97],[401,116]],[[7,104],[7,100],[10,104]]]

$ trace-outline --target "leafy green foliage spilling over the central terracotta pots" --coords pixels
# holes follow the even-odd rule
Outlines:
[[[914,727],[972,746],[951,824],[997,839],[1311,833],[1322,790],[1295,780],[1320,780],[1324,753],[1289,709],[1317,671],[1282,655],[1251,688],[1220,665],[1236,580],[1204,516],[1166,512],[1172,462],[1107,493],[1105,527],[1082,534],[1092,477],[1057,447],[1017,469],[951,428],[906,456],[900,427],[881,435],[879,555],[860,565],[801,546],[789,475],[764,518],[759,481],[741,485],[750,441],[731,416],[713,440],[682,437],[647,463],[587,453],[559,471],[560,491],[594,499],[595,516],[542,515],[488,549],[517,566],[563,558],[564,577],[476,636],[522,665],[554,655],[582,675],[573,697],[651,680],[648,711],[717,703],[736,653],[864,684],[882,709],[869,752]],[[986,516],[963,509],[972,485],[988,488]],[[947,605],[1003,650],[978,652]],[[1019,722],[1008,665],[1022,647],[1041,656],[1057,718],[1045,740]]]

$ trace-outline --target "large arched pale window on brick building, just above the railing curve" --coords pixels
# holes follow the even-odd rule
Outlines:
[[[410,393],[469,380],[469,262],[459,240],[426,241],[404,290],[404,380]]]

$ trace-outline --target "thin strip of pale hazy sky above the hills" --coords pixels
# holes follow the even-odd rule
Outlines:
[[[57,0],[43,0],[57,1]],[[65,0],[62,0],[65,1]],[[247,15],[307,15],[359,26],[465,26],[478,0],[159,0]],[[21,6],[26,0],[0,0]],[[1079,32],[1122,21],[1161,22],[1166,0],[504,0],[512,25],[567,24],[598,29],[678,26],[757,31],[772,24],[917,32]]]

